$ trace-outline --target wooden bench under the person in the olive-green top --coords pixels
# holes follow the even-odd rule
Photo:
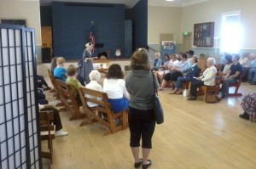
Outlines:
[[[80,113],[80,105],[73,95],[71,86],[66,82],[60,81],[59,79],[56,79],[55,82],[59,88],[61,103],[64,104],[66,110],[71,111],[73,114],[69,120],[73,121],[84,118],[85,115]]]

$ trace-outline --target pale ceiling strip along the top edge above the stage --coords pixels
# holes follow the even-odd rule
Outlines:
[[[133,7],[139,0],[39,0],[41,5],[49,5],[52,1],[73,2],[73,3],[121,3],[126,8]],[[175,6],[184,7],[195,3],[203,3],[210,0],[174,0],[166,2],[166,0],[148,0],[148,6]]]

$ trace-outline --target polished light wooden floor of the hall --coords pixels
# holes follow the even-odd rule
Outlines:
[[[242,83],[240,91],[253,93],[256,86]],[[155,127],[150,169],[255,169],[256,122],[238,117],[242,97],[206,104],[200,97],[161,91],[165,122]],[[50,98],[50,95],[49,95]],[[61,112],[69,135],[55,138],[53,169],[130,169],[133,157],[129,129],[104,136],[101,125],[79,127]],[[44,160],[44,168],[49,168]]]

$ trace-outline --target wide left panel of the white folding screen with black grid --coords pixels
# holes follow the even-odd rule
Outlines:
[[[21,30],[1,29],[0,147],[2,168],[26,167]],[[22,91],[22,90],[21,90]]]

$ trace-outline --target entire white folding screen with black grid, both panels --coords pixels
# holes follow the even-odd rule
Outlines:
[[[0,25],[0,169],[37,169],[41,165],[33,80],[36,69],[33,33],[27,31],[23,36],[26,29],[21,26],[6,27]]]

